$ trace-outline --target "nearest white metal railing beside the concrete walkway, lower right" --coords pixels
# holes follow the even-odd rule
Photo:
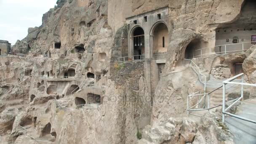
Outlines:
[[[242,77],[242,83],[232,82],[233,80],[237,79],[238,77]],[[234,101],[234,102],[233,102],[229,107],[225,108],[225,103],[227,103],[227,102],[225,102],[225,97],[226,97],[226,96],[225,96],[225,95],[226,95],[226,85],[227,85],[227,84],[241,85],[241,96],[240,96],[239,98],[237,98],[237,99],[232,100],[232,101]],[[238,118],[238,119],[240,119],[240,120],[245,120],[245,121],[248,121],[248,122],[251,122],[251,123],[256,123],[255,120],[250,120],[250,119],[248,119],[248,118],[241,117],[241,116],[234,115],[234,114],[232,114],[232,113],[227,112],[227,111],[228,111],[232,106],[234,106],[237,102],[243,101],[243,85],[248,85],[248,86],[254,86],[254,87],[256,87],[256,84],[244,83],[244,74],[243,74],[243,73],[241,73],[241,74],[239,74],[239,75],[236,75],[236,76],[234,76],[234,77],[231,77],[231,78],[229,78],[229,79],[227,79],[227,80],[225,80],[225,81],[223,82],[223,84],[222,84],[222,86],[223,86],[223,93],[222,93],[222,123],[225,122],[225,114],[226,114],[226,115],[230,115],[230,116],[232,116],[232,117],[236,117],[236,118]],[[228,101],[228,102],[229,102],[229,101]]]

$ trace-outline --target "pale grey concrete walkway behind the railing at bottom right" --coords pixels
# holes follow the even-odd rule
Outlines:
[[[238,110],[237,115],[256,121],[256,99],[243,101]],[[234,141],[236,144],[256,144],[256,124],[225,116],[227,117],[225,123],[235,135]]]

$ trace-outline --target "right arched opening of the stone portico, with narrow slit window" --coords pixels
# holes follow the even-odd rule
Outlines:
[[[151,51],[155,59],[163,58],[169,46],[168,27],[162,21],[157,22],[151,30]]]

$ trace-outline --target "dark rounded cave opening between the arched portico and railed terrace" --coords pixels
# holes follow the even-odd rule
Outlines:
[[[200,39],[192,40],[188,45],[184,53],[185,59],[192,59],[196,56],[201,56],[201,51],[198,50],[203,48],[202,42]],[[203,54],[203,53],[202,53]]]

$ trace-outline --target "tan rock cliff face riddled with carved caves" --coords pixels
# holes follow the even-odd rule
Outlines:
[[[140,144],[232,143],[230,133],[220,128],[223,125],[212,114],[201,123],[170,119],[184,116],[188,94],[203,91],[196,73],[181,66],[186,47],[192,40],[213,46],[216,28],[237,19],[244,0],[230,3],[58,0],[43,14],[42,25],[29,28],[27,37],[13,46],[13,53],[26,53],[25,57],[0,57],[1,140],[135,144],[143,138]],[[117,61],[128,54],[125,18],[166,6],[170,43],[163,75],[151,91],[148,75],[158,68],[149,71],[148,61]],[[228,78],[232,63],[245,59],[243,68],[254,82],[255,51],[250,51],[251,55],[194,61],[207,75]]]

